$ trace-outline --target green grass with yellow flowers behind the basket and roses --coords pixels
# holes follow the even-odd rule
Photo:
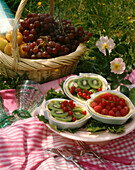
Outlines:
[[[93,37],[87,44],[87,52],[81,58],[75,73],[89,72],[91,63],[89,61],[89,50],[95,45],[101,35],[114,38],[121,37],[127,33],[127,41],[132,46],[132,53],[135,49],[135,1],[134,0],[54,0],[54,16],[58,16],[58,4],[61,18],[70,19],[78,27],[83,26],[84,30],[91,31]],[[6,0],[11,11],[15,14],[20,0]],[[46,12],[49,12],[49,1],[29,0],[23,10],[22,19],[28,12],[44,12],[37,3],[41,2]],[[82,64],[83,63],[83,64]],[[6,80],[6,79],[5,79]],[[11,80],[12,81],[12,80]],[[8,88],[0,85],[0,89]],[[10,86],[9,86],[10,88]],[[13,88],[13,86],[12,86]]]

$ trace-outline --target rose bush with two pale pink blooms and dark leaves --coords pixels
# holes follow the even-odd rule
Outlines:
[[[120,87],[120,91],[128,96],[127,85],[132,84],[128,75],[134,69],[134,56],[131,46],[126,42],[126,37],[124,34],[121,39],[116,37],[113,40],[107,36],[101,36],[95,46],[90,49],[89,72],[104,76],[111,84],[112,90]]]

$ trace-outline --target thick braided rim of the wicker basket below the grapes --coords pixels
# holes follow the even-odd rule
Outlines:
[[[56,58],[50,59],[25,59],[19,57],[17,61],[17,70],[48,70],[48,69],[55,69],[59,68],[59,66],[68,66],[71,65],[73,62],[77,62],[79,58],[85,53],[86,46],[85,44],[79,44],[76,51],[64,55],[59,56]],[[9,67],[12,69],[14,63],[14,57],[5,54],[4,52],[0,51],[0,62],[1,64]]]

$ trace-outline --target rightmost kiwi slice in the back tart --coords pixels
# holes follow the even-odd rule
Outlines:
[[[99,78],[96,78],[96,77],[90,78],[88,80],[88,83],[89,83],[90,87],[92,87],[93,89],[98,89],[102,85],[101,80]]]

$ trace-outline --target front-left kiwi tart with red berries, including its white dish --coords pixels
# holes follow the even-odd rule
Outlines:
[[[58,128],[79,128],[91,117],[84,105],[67,99],[51,99],[45,103],[45,118]]]

